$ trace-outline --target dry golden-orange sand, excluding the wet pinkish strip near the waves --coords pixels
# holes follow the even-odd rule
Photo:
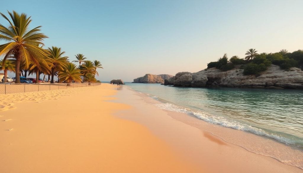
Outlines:
[[[0,172],[201,172],[146,127],[112,116],[130,108],[108,102],[113,87],[1,95]]]

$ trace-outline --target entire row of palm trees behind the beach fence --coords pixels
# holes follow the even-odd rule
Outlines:
[[[24,71],[25,77],[27,72],[29,75],[36,74],[36,83],[42,73],[44,78],[48,75],[51,83],[54,83],[55,76],[58,76],[58,82],[96,82],[95,75],[99,75],[97,68],[103,68],[99,61],[92,62],[86,60],[83,54],[77,54],[77,60],[72,61],[79,62],[77,67],[69,62],[61,48],[43,48],[43,41],[48,37],[40,32],[41,26],[29,28],[31,17],[15,11],[8,12],[10,19],[3,13],[0,14],[9,23],[7,27],[0,24],[0,41],[6,42],[0,45],[0,56],[4,56],[0,69],[4,70],[5,81],[7,72],[11,71],[16,74],[15,83],[20,83],[20,75]]]

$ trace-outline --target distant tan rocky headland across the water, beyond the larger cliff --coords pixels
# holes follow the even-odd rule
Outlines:
[[[139,77],[134,79],[134,82],[132,83],[164,83],[165,79],[171,78],[172,75],[152,75],[152,74],[146,74],[143,77]]]

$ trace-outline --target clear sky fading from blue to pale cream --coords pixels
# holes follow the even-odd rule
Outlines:
[[[197,72],[224,53],[303,49],[303,1],[4,1],[32,16],[45,46],[99,60],[97,79]],[[0,23],[7,24],[3,18]],[[12,77],[12,75],[11,75]]]

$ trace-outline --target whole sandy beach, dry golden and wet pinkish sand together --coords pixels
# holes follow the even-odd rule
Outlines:
[[[1,95],[0,172],[303,172],[173,118],[125,86]]]

